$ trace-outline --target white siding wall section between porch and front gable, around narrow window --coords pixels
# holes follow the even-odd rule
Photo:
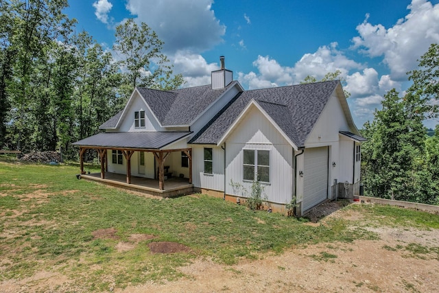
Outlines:
[[[191,145],[194,187],[224,191],[224,150],[216,145]],[[213,174],[204,174],[204,148],[213,149]]]

